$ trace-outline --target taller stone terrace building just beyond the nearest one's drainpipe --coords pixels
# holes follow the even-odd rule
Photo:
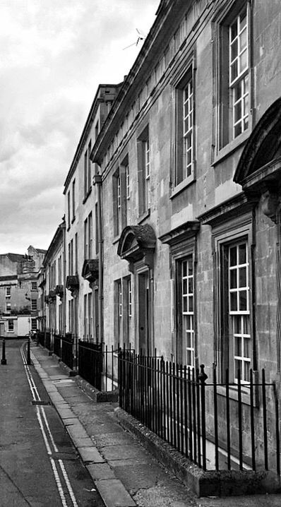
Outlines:
[[[100,85],[64,184],[66,196],[66,332],[76,340],[99,339],[99,192],[90,161],[95,139],[120,85]]]

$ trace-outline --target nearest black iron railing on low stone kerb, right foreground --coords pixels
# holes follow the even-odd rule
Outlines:
[[[212,381],[213,380],[213,381]],[[268,405],[270,404],[270,405]],[[207,382],[200,370],[119,352],[119,405],[203,470],[275,469],[279,408],[273,383]]]

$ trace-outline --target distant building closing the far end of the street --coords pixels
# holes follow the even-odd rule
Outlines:
[[[37,275],[45,250],[0,255],[0,336],[18,338],[37,328]]]

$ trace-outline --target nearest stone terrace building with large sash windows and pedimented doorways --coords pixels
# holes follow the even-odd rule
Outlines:
[[[280,379],[280,18],[161,1],[91,155],[109,345]]]

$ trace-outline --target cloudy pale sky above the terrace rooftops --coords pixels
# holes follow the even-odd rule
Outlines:
[[[0,253],[49,246],[99,83],[119,83],[160,0],[0,0]]]

